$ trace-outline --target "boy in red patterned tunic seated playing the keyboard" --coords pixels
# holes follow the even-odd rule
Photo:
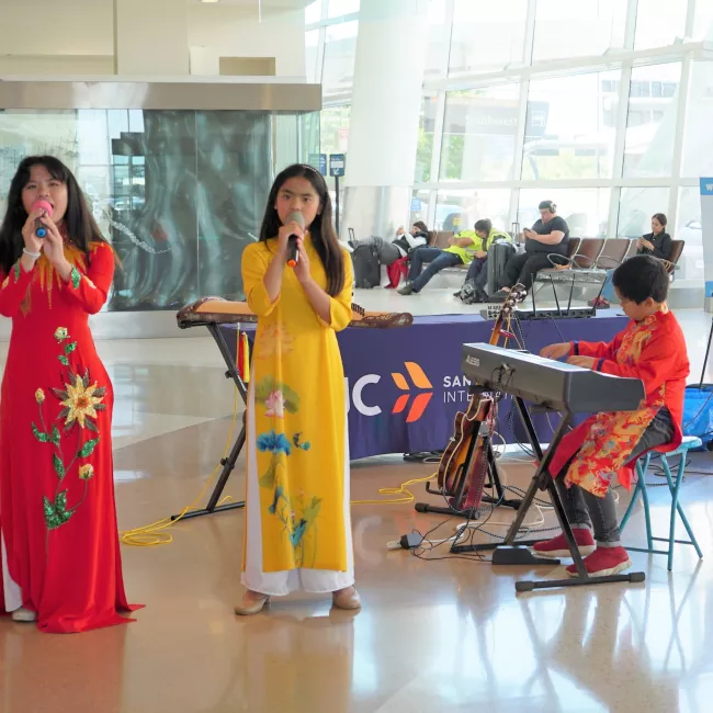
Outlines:
[[[603,374],[641,378],[646,391],[637,411],[597,414],[567,433],[550,466],[575,541],[587,555],[587,571],[595,576],[631,566],[620,541],[611,480],[619,472],[620,484],[631,489],[632,469],[642,454],[680,445],[690,371],[683,332],[666,306],[664,264],[650,256],[635,256],[616,268],[613,283],[631,321],[611,343],[575,341],[541,352],[548,359],[567,356],[570,364]],[[533,552],[544,557],[569,555],[564,534],[536,543]],[[577,576],[574,565],[567,571]]]

